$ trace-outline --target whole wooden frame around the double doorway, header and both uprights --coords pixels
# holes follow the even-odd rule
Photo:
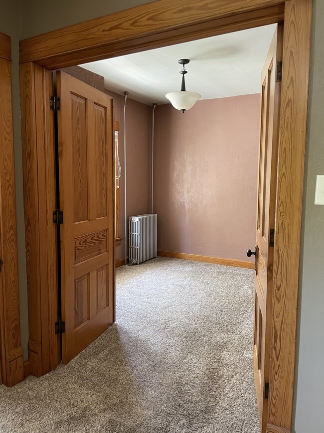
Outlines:
[[[48,70],[284,20],[267,432],[290,432],[311,18],[312,0],[159,0],[20,41],[29,339],[31,332],[37,338],[30,344],[32,374],[46,372],[44,342],[46,353],[53,354],[46,337],[53,324],[48,328],[41,312],[56,308],[51,304],[55,278],[41,285],[48,263],[55,267],[56,261],[54,248],[43,246],[46,239],[55,245],[50,227],[54,163],[46,157],[53,146]],[[41,309],[37,317],[36,307]]]

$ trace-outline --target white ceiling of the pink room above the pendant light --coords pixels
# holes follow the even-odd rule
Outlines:
[[[80,65],[105,77],[105,87],[146,104],[167,104],[180,90],[180,58],[186,90],[201,99],[260,92],[261,71],[277,24],[236,31]]]

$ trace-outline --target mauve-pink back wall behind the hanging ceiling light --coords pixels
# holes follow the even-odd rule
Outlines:
[[[155,111],[158,249],[249,260],[254,249],[260,95]],[[253,259],[250,261],[253,261]]]

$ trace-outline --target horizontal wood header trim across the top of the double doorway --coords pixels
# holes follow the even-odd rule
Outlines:
[[[20,41],[48,69],[278,22],[284,0],[160,0]],[[130,43],[130,40],[132,42]]]

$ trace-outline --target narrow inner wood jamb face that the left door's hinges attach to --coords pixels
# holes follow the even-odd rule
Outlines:
[[[56,208],[53,200],[55,191],[53,113],[49,109],[49,96],[53,94],[53,74],[35,65],[35,119],[37,146],[38,196],[44,197],[38,204],[39,215],[39,275],[41,304],[41,359],[42,374],[48,373],[58,364],[55,351],[59,347],[59,337],[55,335],[54,324],[57,311],[57,267],[53,266],[50,252],[56,254],[56,227],[51,214]],[[43,122],[44,119],[44,122]],[[48,135],[48,137],[46,137]],[[47,193],[47,188],[53,191]],[[51,298],[53,305],[49,308]]]

